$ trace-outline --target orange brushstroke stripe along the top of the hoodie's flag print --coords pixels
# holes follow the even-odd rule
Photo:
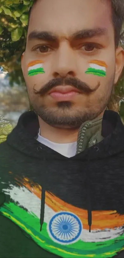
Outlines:
[[[34,193],[38,198],[41,199],[41,186],[30,183],[28,178],[19,180],[30,192]],[[18,184],[21,186],[21,184]],[[31,186],[32,185],[32,186]],[[82,221],[83,228],[89,230],[87,223],[88,216],[87,210],[77,208],[71,204],[64,202],[63,200],[56,197],[54,194],[47,192],[45,194],[45,204],[53,209],[55,212],[68,211],[77,215]],[[92,230],[104,230],[113,229],[115,227],[122,227],[124,224],[124,215],[119,215],[116,210],[114,211],[92,211]]]

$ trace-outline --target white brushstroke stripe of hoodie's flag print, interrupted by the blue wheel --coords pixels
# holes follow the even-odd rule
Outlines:
[[[10,185],[11,189],[3,189],[3,192],[10,195],[14,202],[18,202],[20,206],[26,208],[29,213],[34,213],[40,219],[41,200],[26,187],[16,187]],[[69,211],[70,212],[70,211]],[[45,204],[44,222],[49,223],[50,219],[56,214],[48,205]],[[82,229],[80,239],[84,242],[104,242],[114,239],[124,233],[122,227],[106,230],[89,230]]]

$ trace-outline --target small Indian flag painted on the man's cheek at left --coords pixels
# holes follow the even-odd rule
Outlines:
[[[34,76],[38,73],[45,73],[42,60],[32,61],[28,64],[28,76]]]

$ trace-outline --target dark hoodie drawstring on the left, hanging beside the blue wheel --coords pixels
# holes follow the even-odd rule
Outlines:
[[[46,168],[46,159],[44,158],[44,163],[43,167]],[[46,169],[44,169],[45,173],[46,173]],[[40,213],[40,231],[42,231],[42,225],[44,222],[44,211],[45,211],[45,178],[46,178],[46,174],[44,175],[44,179],[42,181],[42,190],[41,190],[41,213]]]

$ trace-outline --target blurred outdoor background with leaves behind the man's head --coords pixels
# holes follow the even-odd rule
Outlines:
[[[21,55],[26,46],[28,12],[32,4],[31,0],[0,0],[0,120],[8,119],[13,127],[24,111],[31,110]],[[123,30],[120,45],[124,47]],[[124,122],[124,70],[108,109],[118,112]]]

